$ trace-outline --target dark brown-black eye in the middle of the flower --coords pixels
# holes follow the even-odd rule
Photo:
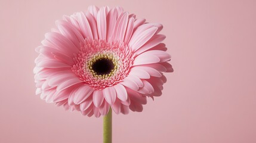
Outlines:
[[[109,74],[114,69],[114,64],[112,60],[108,58],[100,58],[92,64],[92,70],[97,75]]]

